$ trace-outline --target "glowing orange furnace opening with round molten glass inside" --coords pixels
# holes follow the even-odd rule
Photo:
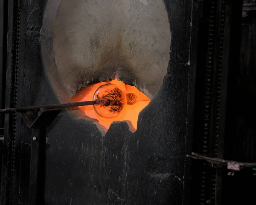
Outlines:
[[[104,105],[88,105],[79,107],[84,114],[99,121],[108,129],[114,121],[130,121],[131,130],[137,129],[140,111],[150,102],[150,99],[135,86],[114,79],[88,85],[72,97],[74,102],[104,99]]]

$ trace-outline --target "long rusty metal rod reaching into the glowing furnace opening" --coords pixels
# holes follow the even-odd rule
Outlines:
[[[0,114],[6,113],[16,113],[16,112],[27,112],[27,111],[35,111],[43,109],[58,109],[58,108],[73,108],[85,105],[99,105],[100,100],[93,100],[93,101],[83,101],[83,102],[75,102],[75,103],[60,103],[60,104],[52,104],[52,105],[36,105],[36,106],[29,106],[29,107],[21,107],[21,108],[6,108],[0,109]]]

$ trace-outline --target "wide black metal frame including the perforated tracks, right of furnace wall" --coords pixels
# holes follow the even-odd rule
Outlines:
[[[227,108],[233,107],[230,86],[234,84],[229,78],[235,77],[234,65],[239,69],[240,45],[237,42],[242,17],[239,7],[242,8],[241,0],[204,1],[198,33],[201,45],[198,47],[200,60],[195,89],[195,113],[198,115],[195,116],[193,151],[208,157],[224,156],[227,114],[230,117]],[[234,34],[238,37],[236,40]],[[193,161],[191,204],[221,204],[223,172],[218,166]]]

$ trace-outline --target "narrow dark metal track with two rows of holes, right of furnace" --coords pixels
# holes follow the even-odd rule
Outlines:
[[[210,14],[206,66],[207,70],[204,93],[204,131],[202,154],[204,154],[204,156],[209,156],[209,153],[211,153],[211,157],[217,157],[218,148],[225,5],[225,0],[211,0],[209,5]],[[217,9],[220,9],[220,11]],[[214,165],[213,168],[215,168]],[[214,169],[209,168],[209,164],[204,163],[201,171],[201,205],[215,204],[215,185],[216,172]]]

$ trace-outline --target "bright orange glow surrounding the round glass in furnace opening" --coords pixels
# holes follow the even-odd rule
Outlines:
[[[117,80],[116,78],[111,81],[105,81],[100,82],[92,85],[88,85],[87,87],[83,88],[81,91],[77,92],[75,96],[72,97],[74,102],[81,102],[81,101],[90,101],[93,100],[93,96],[96,92],[96,90],[101,86],[105,84],[114,84],[119,86],[119,88],[122,88],[122,90],[125,92],[125,94],[135,94],[137,96],[137,102],[136,103],[130,103],[130,105],[126,105],[124,111],[122,111],[118,116],[113,118],[105,118],[101,117],[97,112],[95,111],[93,105],[88,106],[82,106],[79,107],[81,110],[84,111],[84,114],[90,118],[96,119],[99,121],[99,124],[104,126],[106,129],[108,129],[112,122],[114,121],[130,121],[130,129],[136,130],[137,129],[137,121],[140,111],[145,108],[148,103],[150,102],[150,99],[141,91],[139,91],[135,86],[126,85],[122,81]],[[132,127],[131,127],[132,126]]]

